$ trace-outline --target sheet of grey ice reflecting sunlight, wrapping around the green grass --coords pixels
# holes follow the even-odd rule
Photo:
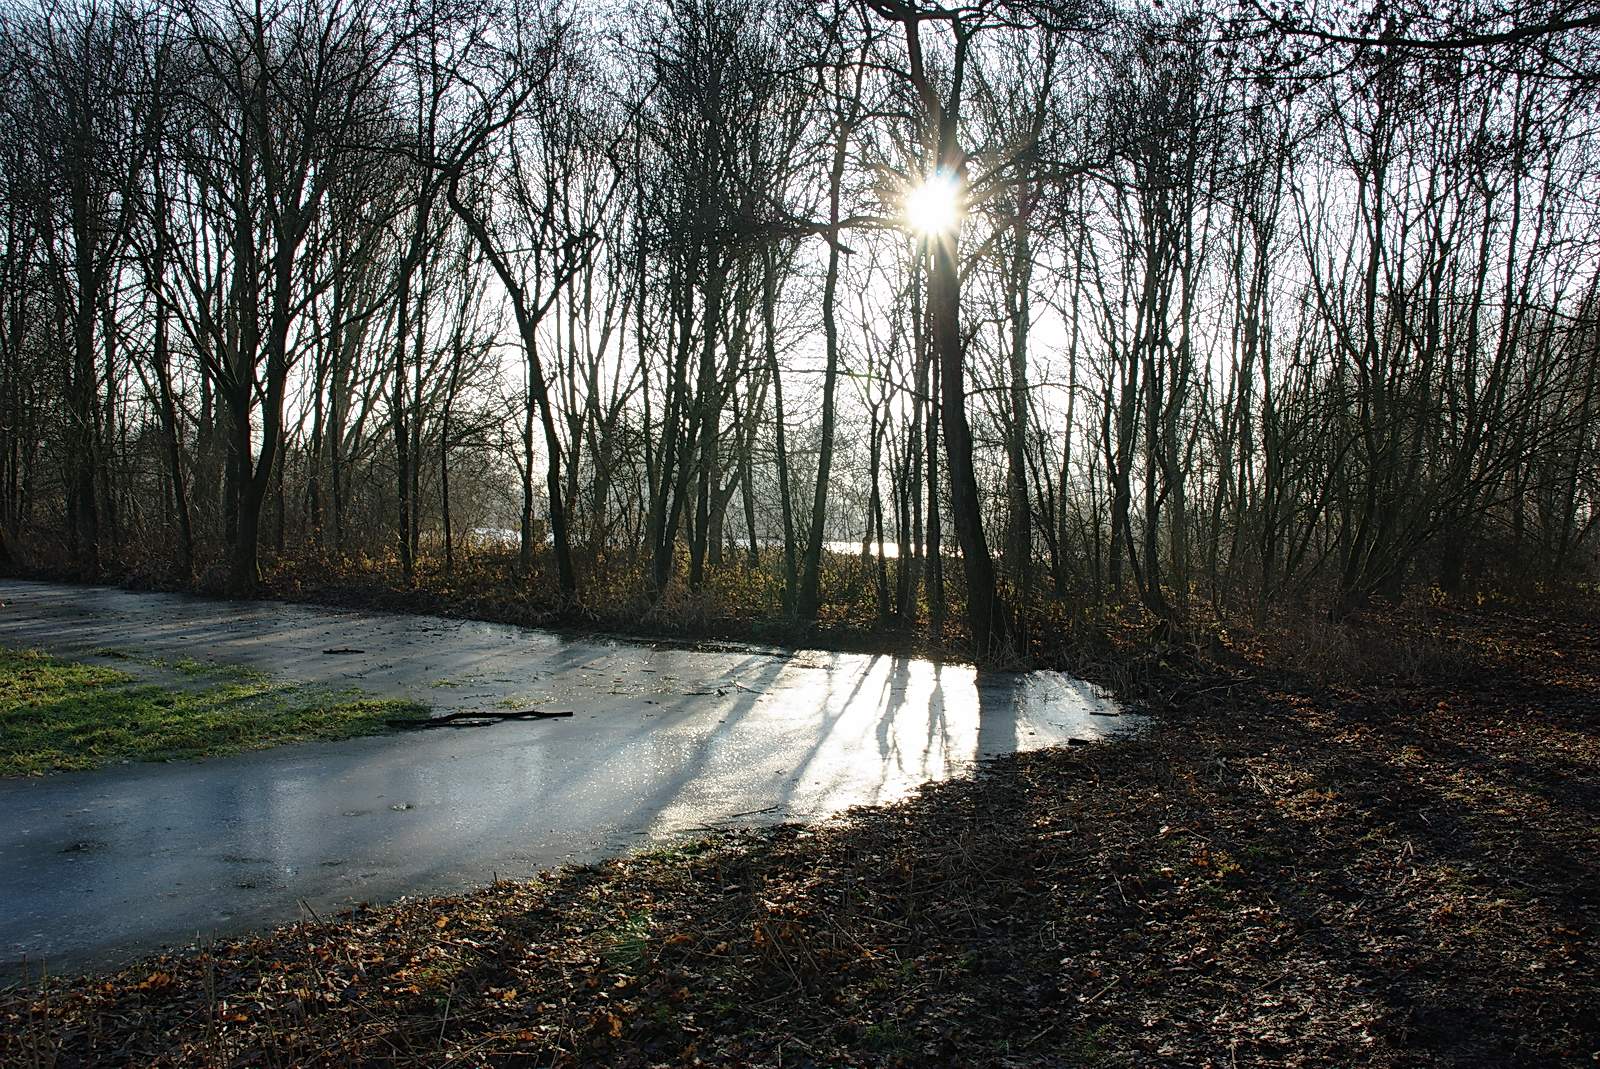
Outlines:
[[[437,712],[576,714],[0,779],[0,954],[66,970],[282,923],[302,903],[326,915],[701,829],[816,819],[1138,720],[1096,715],[1115,706],[1054,672],[43,583],[0,581],[0,600],[13,648],[216,659]]]

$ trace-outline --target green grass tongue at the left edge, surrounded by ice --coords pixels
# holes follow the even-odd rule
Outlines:
[[[186,760],[285,743],[381,735],[411,701],[318,693],[227,666],[224,680],[171,691],[107,667],[0,650],[0,775],[37,776],[133,760]]]

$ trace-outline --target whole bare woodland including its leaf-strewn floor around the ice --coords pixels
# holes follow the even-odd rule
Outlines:
[[[0,8],[0,567],[1077,642],[1155,714],[24,959],[0,1061],[1594,1066],[1597,58],[1578,0]]]

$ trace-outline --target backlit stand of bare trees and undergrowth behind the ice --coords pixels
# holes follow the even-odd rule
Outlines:
[[[982,664],[1582,589],[1595,16],[0,13],[0,560]],[[477,584],[477,587],[474,587]]]

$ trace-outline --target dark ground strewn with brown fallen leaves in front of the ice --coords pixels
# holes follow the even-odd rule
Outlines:
[[[1139,738],[3,999],[6,1064],[1594,1066],[1600,640],[1147,651]]]

